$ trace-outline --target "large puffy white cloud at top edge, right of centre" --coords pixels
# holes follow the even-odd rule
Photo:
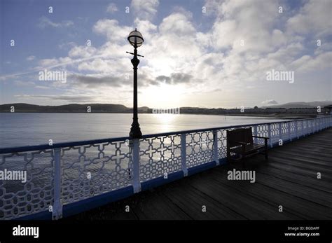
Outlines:
[[[210,34],[216,50],[259,54],[274,50],[279,45],[276,40],[285,42],[283,32],[274,30],[275,23],[281,21],[277,1],[224,1],[214,8],[218,15]]]

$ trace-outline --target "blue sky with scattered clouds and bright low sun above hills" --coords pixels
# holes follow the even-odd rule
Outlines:
[[[139,106],[332,99],[332,1],[1,0],[0,8],[0,104],[132,106],[134,28],[144,37]]]

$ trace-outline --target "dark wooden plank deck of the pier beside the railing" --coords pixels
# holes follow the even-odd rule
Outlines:
[[[268,163],[263,155],[249,158],[246,170],[256,171],[255,183],[227,179],[228,170],[242,169],[235,162],[67,219],[331,220],[331,148],[332,128],[272,148]],[[125,212],[126,205],[130,212]]]

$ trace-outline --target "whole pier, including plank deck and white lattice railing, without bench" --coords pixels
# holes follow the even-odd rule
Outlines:
[[[331,126],[326,116],[1,148],[0,169],[26,170],[27,182],[0,181],[0,219],[332,219]],[[228,179],[244,169],[226,159],[237,127],[270,137],[269,161],[247,160],[254,183]]]

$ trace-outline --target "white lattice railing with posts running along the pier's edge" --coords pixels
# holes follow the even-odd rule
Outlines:
[[[121,188],[167,178],[191,169],[225,162],[226,130],[252,127],[253,134],[270,137],[269,145],[298,139],[332,126],[331,116],[276,123],[215,127],[202,130],[78,141],[53,146],[0,148],[0,171],[26,171],[27,181],[0,180],[0,219],[49,212],[62,217],[74,202]],[[257,143],[263,140],[255,139]]]

